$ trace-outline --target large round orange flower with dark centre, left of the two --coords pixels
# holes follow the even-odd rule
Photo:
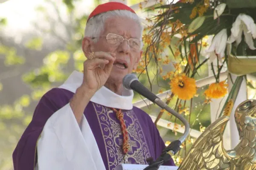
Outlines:
[[[179,99],[189,100],[196,94],[195,79],[189,78],[185,74],[173,77],[170,85],[172,93]]]

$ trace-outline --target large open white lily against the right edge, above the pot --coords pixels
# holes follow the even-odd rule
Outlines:
[[[242,40],[242,34],[244,32],[244,40],[251,50],[255,50],[253,39],[256,38],[256,24],[253,18],[246,14],[239,14],[236,21],[233,23],[231,28],[231,35],[227,43],[236,41],[239,45]]]

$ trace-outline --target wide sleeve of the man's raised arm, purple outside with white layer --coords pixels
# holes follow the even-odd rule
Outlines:
[[[63,91],[52,90],[38,103],[13,153],[15,170],[105,169],[85,116],[79,127],[69,105],[72,95]]]

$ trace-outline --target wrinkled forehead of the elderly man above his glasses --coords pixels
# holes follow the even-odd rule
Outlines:
[[[105,22],[105,29],[103,34],[118,34],[126,38],[140,39],[139,24],[128,17],[111,17]]]

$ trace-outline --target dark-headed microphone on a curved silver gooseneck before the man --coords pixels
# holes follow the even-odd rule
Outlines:
[[[181,116],[181,114],[174,111],[172,108],[170,108],[168,105],[166,105],[165,102],[162,102],[159,97],[157,97],[155,94],[153,94],[151,91],[149,91],[143,84],[141,84],[134,74],[127,74],[123,78],[123,86],[127,90],[134,90],[137,93],[141,94],[145,98],[149,99],[151,102],[155,103],[156,105],[160,106],[160,108],[165,109],[169,113],[172,113],[175,117],[180,119],[180,121],[185,125],[185,132],[183,133],[183,136],[181,136],[178,141],[173,141],[166,149],[164,149],[164,152],[169,152],[172,150],[172,153],[175,154],[180,149],[180,144],[185,141],[186,137],[189,135],[189,122]]]

